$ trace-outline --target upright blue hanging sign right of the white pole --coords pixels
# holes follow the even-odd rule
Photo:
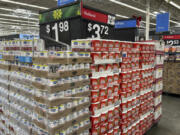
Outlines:
[[[158,14],[156,17],[156,32],[169,31],[169,13]]]

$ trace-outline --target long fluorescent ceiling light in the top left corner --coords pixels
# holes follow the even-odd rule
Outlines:
[[[6,2],[6,3],[15,4],[15,5],[21,5],[21,6],[27,6],[27,7],[32,7],[32,8],[38,8],[38,9],[49,9],[47,7],[42,7],[42,6],[37,6],[37,5],[32,5],[32,4],[22,3],[22,2],[16,2],[16,1],[12,1],[12,0],[0,0],[0,1]]]

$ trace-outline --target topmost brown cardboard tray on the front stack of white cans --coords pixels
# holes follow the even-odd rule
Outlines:
[[[91,57],[89,58],[40,58],[34,57],[33,63],[38,64],[78,64],[78,63],[92,63]]]

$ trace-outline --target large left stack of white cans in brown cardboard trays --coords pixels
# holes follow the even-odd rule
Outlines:
[[[1,134],[88,135],[90,53],[36,42],[1,44]]]

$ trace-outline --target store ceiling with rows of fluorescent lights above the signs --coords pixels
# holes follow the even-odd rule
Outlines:
[[[131,5],[141,10],[146,10],[145,0],[116,0],[122,3]],[[16,3],[14,3],[16,2]],[[176,4],[180,5],[180,0],[173,0]],[[103,9],[113,14],[119,14],[131,18],[133,15],[142,16],[145,21],[146,14],[143,12],[136,11],[129,7],[125,7],[110,0],[84,0],[84,3],[94,8]],[[30,4],[30,5],[28,5]],[[34,31],[38,32],[38,12],[39,10],[56,7],[56,0],[0,0],[0,30],[4,31]],[[21,11],[14,13],[16,9],[26,9],[33,13],[29,19],[23,17],[14,17],[14,14],[20,15]],[[165,2],[165,0],[151,0],[151,13],[154,11],[168,11],[171,13],[171,20],[180,23],[180,9],[172,6]],[[123,19],[119,17],[119,19]],[[151,16],[151,22],[155,24],[155,16]],[[177,25],[172,23],[171,26]],[[19,26],[14,28],[13,26]],[[151,25],[155,27],[155,25]]]

